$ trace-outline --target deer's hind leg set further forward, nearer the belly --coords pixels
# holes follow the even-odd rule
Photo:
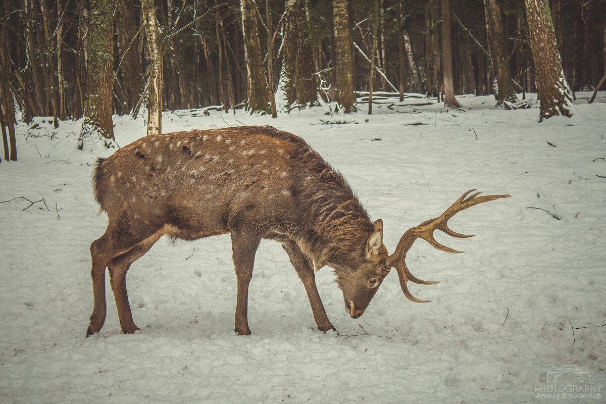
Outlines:
[[[128,303],[126,273],[130,265],[147,253],[160,237],[162,237],[160,231],[154,233],[126,253],[114,257],[107,265],[114,299],[116,300],[116,308],[118,309],[118,318],[122,327],[122,333],[124,334],[134,334],[139,329],[135,325],[135,322],[133,322],[133,314],[130,311],[130,304]]]

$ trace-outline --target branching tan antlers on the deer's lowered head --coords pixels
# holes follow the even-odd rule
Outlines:
[[[406,282],[408,280],[410,280],[411,282],[419,283],[421,285],[433,285],[434,283],[439,283],[421,280],[413,276],[410,271],[408,271],[408,267],[406,266],[404,260],[406,259],[406,253],[408,253],[408,250],[410,250],[410,247],[413,245],[415,240],[421,237],[438,250],[447,251],[448,253],[462,253],[463,251],[453,250],[452,248],[446,247],[445,245],[442,245],[437,242],[436,239],[433,237],[433,231],[441,230],[444,233],[448,234],[448,236],[459,237],[461,239],[473,237],[473,235],[469,236],[467,234],[456,233],[455,231],[450,230],[450,228],[448,228],[448,219],[453,217],[454,214],[469,207],[472,207],[473,205],[482,204],[483,202],[488,202],[489,200],[507,198],[511,196],[506,194],[485,195],[478,197],[481,192],[476,192],[467,199],[465,199],[468,194],[473,191],[475,190],[469,190],[464,193],[459,199],[456,200],[456,202],[454,202],[454,204],[450,205],[450,208],[448,208],[444,213],[442,213],[441,216],[436,217],[435,219],[427,220],[426,222],[423,222],[422,224],[416,227],[408,229],[398,242],[398,247],[396,247],[396,250],[393,252],[393,254],[387,257],[387,261],[385,262],[385,269],[388,271],[391,267],[396,268],[396,270],[398,271],[398,276],[400,278],[400,286],[402,286],[404,296],[408,297],[408,299],[412,300],[413,302],[425,303],[429,302],[429,300],[421,300],[417,299],[415,296],[412,296],[410,294],[410,291],[408,291],[408,286],[406,285]]]

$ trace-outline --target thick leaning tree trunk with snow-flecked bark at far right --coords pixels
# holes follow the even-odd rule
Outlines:
[[[547,0],[524,0],[533,54],[535,81],[541,101],[539,122],[554,115],[572,116],[570,87],[564,77]]]

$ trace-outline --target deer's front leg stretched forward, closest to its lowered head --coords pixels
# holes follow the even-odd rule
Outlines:
[[[335,330],[335,327],[333,327],[330,320],[328,320],[324,305],[322,305],[322,300],[320,299],[320,294],[316,287],[316,275],[313,272],[310,260],[305,256],[303,251],[301,251],[301,248],[293,242],[283,243],[282,248],[288,253],[290,262],[293,264],[293,267],[295,267],[295,270],[299,274],[299,278],[301,278],[303,285],[305,286],[307,297],[311,303],[313,318],[316,320],[319,330],[323,333],[329,329]]]

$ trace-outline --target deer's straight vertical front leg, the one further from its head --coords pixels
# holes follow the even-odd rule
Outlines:
[[[255,253],[261,239],[243,233],[231,233],[233,263],[238,277],[238,300],[234,330],[239,336],[249,336],[248,328],[248,285],[253,277]]]

